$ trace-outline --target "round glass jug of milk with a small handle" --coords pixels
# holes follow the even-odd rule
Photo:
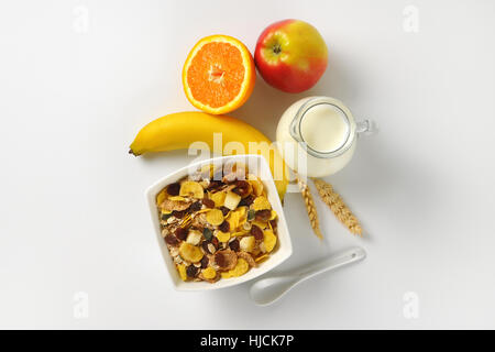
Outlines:
[[[332,175],[354,154],[359,133],[372,132],[372,122],[355,122],[339,100],[309,97],[293,103],[277,125],[277,147],[287,165],[308,177]]]

